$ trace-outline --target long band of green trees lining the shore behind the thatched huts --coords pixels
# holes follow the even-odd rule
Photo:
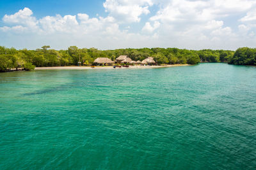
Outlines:
[[[79,58],[83,66],[90,66],[97,57],[115,60],[120,55],[128,55],[132,60],[154,57],[157,64],[198,64],[199,62],[228,62],[229,64],[256,65],[256,48],[230,50],[186,50],[179,48],[126,48],[98,50],[97,48],[77,48],[54,50],[42,46],[36,50],[16,50],[0,46],[0,71],[23,67],[31,70],[36,67],[77,66]]]

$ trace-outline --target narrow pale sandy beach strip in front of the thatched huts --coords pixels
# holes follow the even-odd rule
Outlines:
[[[60,67],[35,67],[35,70],[46,69],[143,69],[143,68],[161,68],[161,67],[177,67],[177,66],[191,66],[190,64],[173,64],[165,66],[129,66],[129,67],[116,67],[113,66],[60,66]]]

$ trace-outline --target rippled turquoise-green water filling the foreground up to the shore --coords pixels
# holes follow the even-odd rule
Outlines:
[[[256,67],[0,74],[0,169],[255,169]]]

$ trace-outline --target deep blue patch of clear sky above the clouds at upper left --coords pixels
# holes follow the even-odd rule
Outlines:
[[[86,1],[86,0],[54,0],[54,1],[38,1],[38,0],[1,0],[0,16],[5,14],[13,14],[24,7],[28,7],[33,11],[36,18],[46,15],[76,15],[77,13],[87,13],[96,16],[106,15],[102,4],[104,1]]]

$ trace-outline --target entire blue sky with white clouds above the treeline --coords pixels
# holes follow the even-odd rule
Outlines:
[[[56,50],[256,45],[255,0],[1,0],[0,46]]]

